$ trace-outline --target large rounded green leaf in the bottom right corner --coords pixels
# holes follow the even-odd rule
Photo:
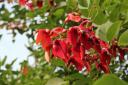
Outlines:
[[[123,80],[120,80],[113,74],[106,74],[101,79],[97,80],[93,85],[128,85]]]

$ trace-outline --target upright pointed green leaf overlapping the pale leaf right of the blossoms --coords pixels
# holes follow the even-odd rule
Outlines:
[[[107,39],[111,41],[113,38],[116,38],[121,26],[121,21],[116,21],[111,25],[111,27],[107,31]]]

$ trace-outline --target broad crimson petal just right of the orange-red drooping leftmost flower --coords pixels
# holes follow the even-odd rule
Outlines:
[[[53,43],[52,53],[55,57],[62,59],[64,62],[68,62],[67,45],[63,40],[55,40]]]

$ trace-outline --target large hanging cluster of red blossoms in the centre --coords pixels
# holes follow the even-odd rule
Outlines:
[[[52,57],[63,60],[67,66],[73,66],[78,71],[86,68],[90,72],[94,64],[97,70],[109,73],[112,57],[120,55],[120,60],[124,59],[125,50],[117,45],[116,40],[109,44],[99,39],[91,21],[75,13],[69,13],[64,22],[70,21],[79,25],[69,29],[56,27],[52,30],[38,30],[36,43],[42,44],[46,61],[50,62],[52,54]]]

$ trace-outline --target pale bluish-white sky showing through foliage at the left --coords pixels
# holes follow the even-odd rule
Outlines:
[[[8,8],[10,11],[11,6],[13,4],[7,4],[6,2],[4,3],[6,8]],[[0,7],[2,4],[0,3]],[[25,34],[21,35],[17,32],[17,36],[15,37],[15,43],[12,42],[12,34],[11,30],[6,30],[6,29],[0,29],[0,34],[2,34],[2,38],[0,40],[0,59],[3,59],[5,56],[7,56],[7,62],[10,63],[12,60],[17,58],[17,61],[13,65],[13,69],[17,70],[20,68],[19,63],[22,62],[23,60],[27,59],[27,56],[30,54],[30,52],[27,50],[25,47],[26,44],[28,44],[28,39],[25,36]],[[29,58],[30,64],[33,64],[34,59]]]

